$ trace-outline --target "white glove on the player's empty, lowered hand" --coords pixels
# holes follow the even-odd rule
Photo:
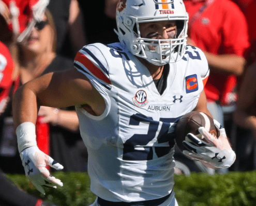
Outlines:
[[[37,146],[24,149],[20,153],[20,157],[27,178],[31,180],[39,192],[45,194],[42,185],[54,188],[63,186],[61,180],[53,177],[46,168],[47,165],[50,165],[59,170],[63,169],[63,166],[42,152]]]

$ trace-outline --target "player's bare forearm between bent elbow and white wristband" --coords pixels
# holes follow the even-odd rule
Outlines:
[[[14,127],[17,128],[24,122],[36,124],[37,107],[35,93],[26,84],[20,87],[14,94],[12,102]]]

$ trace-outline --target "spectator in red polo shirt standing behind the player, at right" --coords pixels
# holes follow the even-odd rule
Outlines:
[[[230,0],[185,0],[184,4],[189,13],[188,44],[204,51],[210,68],[205,85],[208,107],[224,124],[221,106],[235,100],[231,94],[236,76],[243,74],[244,53],[250,45],[245,16]]]

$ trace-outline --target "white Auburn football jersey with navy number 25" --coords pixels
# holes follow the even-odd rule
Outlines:
[[[183,59],[170,64],[162,95],[148,69],[120,43],[87,45],[74,65],[106,102],[100,116],[76,107],[92,192],[126,202],[171,193],[174,128],[195,108],[204,88],[209,70],[203,52],[187,46]]]

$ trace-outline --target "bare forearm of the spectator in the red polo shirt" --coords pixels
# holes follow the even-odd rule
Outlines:
[[[245,59],[236,55],[213,55],[204,52],[209,67],[223,72],[228,72],[240,76],[244,72]]]

